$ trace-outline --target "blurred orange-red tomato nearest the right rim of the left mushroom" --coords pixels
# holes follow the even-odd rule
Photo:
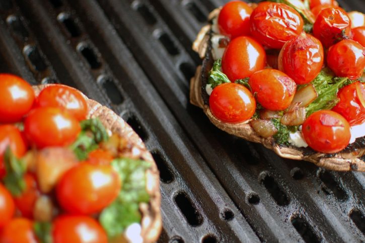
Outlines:
[[[111,166],[81,163],[63,174],[56,192],[67,212],[91,214],[112,203],[120,189],[121,180]]]

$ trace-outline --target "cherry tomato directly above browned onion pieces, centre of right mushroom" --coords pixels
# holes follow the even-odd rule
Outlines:
[[[285,73],[275,69],[263,69],[251,75],[248,82],[256,100],[271,111],[286,109],[293,101],[297,85]]]

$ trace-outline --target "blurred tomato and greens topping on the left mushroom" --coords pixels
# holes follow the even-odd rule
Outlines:
[[[73,88],[0,74],[0,96],[0,242],[142,242],[150,164],[128,141]]]

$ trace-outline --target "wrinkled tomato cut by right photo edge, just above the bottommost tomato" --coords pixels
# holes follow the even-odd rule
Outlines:
[[[365,85],[360,82],[343,87],[337,94],[340,101],[332,109],[341,114],[350,126],[365,122]]]

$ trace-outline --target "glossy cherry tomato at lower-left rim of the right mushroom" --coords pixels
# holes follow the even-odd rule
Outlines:
[[[256,110],[256,101],[251,92],[235,83],[215,87],[209,97],[209,107],[213,115],[228,123],[238,123],[250,119]]]

